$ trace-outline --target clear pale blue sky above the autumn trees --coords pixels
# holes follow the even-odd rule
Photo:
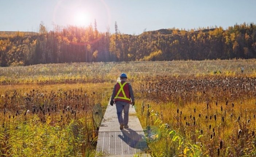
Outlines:
[[[185,28],[256,23],[256,0],[0,0],[0,31],[37,32],[40,21],[48,31],[60,26],[140,34],[162,28]],[[79,14],[86,21],[79,21]],[[84,15],[85,14],[85,15]],[[82,16],[82,17],[83,17]],[[86,16],[86,17],[85,17]]]

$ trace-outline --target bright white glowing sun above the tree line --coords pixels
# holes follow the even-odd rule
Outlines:
[[[90,16],[86,12],[76,12],[74,14],[74,24],[77,26],[86,26],[90,23]]]

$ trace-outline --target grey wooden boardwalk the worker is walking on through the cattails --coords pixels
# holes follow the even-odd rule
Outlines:
[[[146,138],[132,106],[128,125],[129,128],[119,129],[116,106],[108,104],[98,132],[97,153],[108,157],[150,157],[145,154]]]

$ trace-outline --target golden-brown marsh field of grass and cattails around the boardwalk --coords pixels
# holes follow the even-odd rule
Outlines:
[[[122,72],[151,156],[256,156],[255,67],[204,60],[0,68],[0,156],[95,156],[91,111],[106,108]]]

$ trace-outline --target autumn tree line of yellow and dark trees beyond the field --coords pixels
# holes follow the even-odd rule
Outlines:
[[[47,31],[43,23],[39,33],[17,32],[0,35],[0,66],[70,62],[205,60],[256,58],[256,25],[235,24],[198,28],[189,31],[160,29],[140,35],[97,30],[88,27],[56,26]]]

